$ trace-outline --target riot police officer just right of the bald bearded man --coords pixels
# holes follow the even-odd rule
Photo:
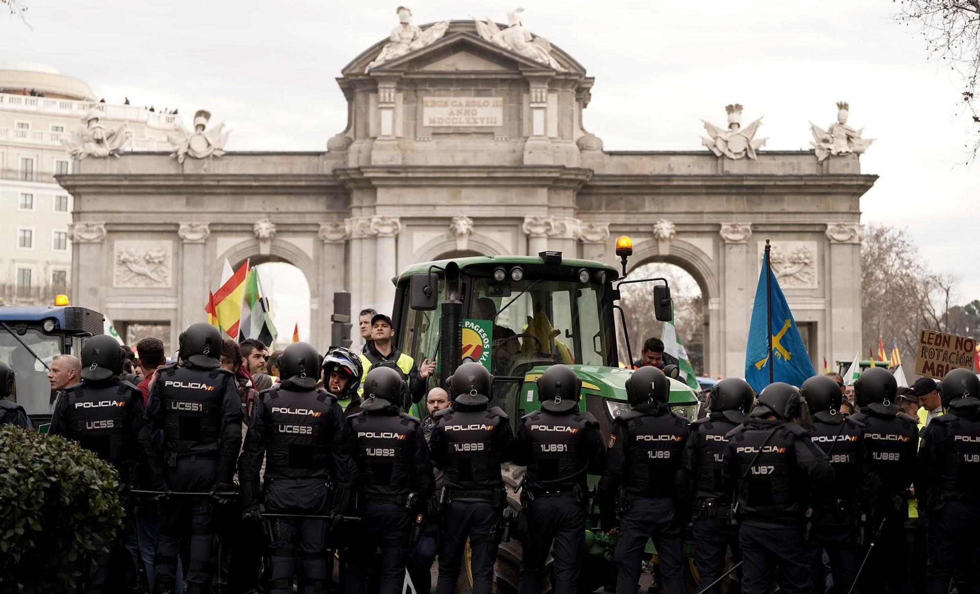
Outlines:
[[[514,431],[507,414],[487,408],[493,375],[478,363],[461,365],[449,378],[453,408],[441,412],[429,439],[429,456],[443,470],[439,510],[443,525],[439,548],[439,581],[436,594],[456,591],[466,538],[473,593],[493,589],[497,559],[496,531],[506,504],[500,465],[513,457]],[[441,506],[440,506],[441,507]]]

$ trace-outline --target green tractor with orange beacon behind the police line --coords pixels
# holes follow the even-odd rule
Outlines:
[[[444,385],[464,360],[487,366],[494,374],[491,406],[506,411],[513,423],[539,409],[535,379],[549,366],[567,365],[582,379],[582,410],[600,422],[608,440],[613,420],[629,410],[625,381],[632,372],[623,369],[632,368],[632,353],[626,353],[628,360],[623,366],[616,351],[613,310],[619,310],[624,321],[622,309],[616,305],[618,286],[658,282],[654,304],[657,319],[671,318],[665,279],[624,278],[626,257],[631,252],[629,238],[621,237],[616,254],[622,258],[622,275],[599,262],[564,259],[561,252],[417,264],[395,280],[395,346],[417,361],[436,359],[436,377],[430,380],[430,387],[435,382]],[[625,328],[625,323],[622,326]],[[671,379],[670,405],[694,421],[700,401],[687,384]],[[417,405],[414,414],[424,419],[425,407]],[[523,471],[522,467],[505,465],[513,509],[519,507],[516,491]],[[589,477],[591,483],[598,479]],[[609,578],[614,538],[599,530],[587,530],[580,591],[592,592]],[[649,550],[656,559],[652,546]],[[501,545],[496,591],[517,591],[520,557],[516,539]],[[462,572],[459,584],[464,592],[471,585],[466,573]],[[548,588],[545,584],[542,591]]]

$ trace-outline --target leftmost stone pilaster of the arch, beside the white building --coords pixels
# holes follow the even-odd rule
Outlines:
[[[106,223],[73,223],[71,235],[72,304],[103,312],[105,287],[112,285],[113,274],[112,258],[103,242],[106,238]],[[93,273],[93,270],[96,272]]]

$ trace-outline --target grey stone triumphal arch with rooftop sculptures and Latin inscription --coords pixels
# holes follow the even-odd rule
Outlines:
[[[398,25],[337,79],[348,121],[324,152],[221,154],[226,134],[195,118],[173,155],[76,162],[59,177],[75,198],[75,302],[170,323],[175,344],[205,319],[225,258],[282,260],[310,282],[324,348],[334,291],[387,311],[391,278],[417,261],[549,249],[614,264],[625,233],[635,265],[692,273],[706,371],[740,374],[768,238],[811,356],[854,355],[859,199],[875,179],[860,173],[863,147],[828,130],[822,153],[758,150],[758,124],[742,128],[730,105],[727,129],[706,126],[708,149],[605,151],[582,127],[594,78],[511,17]]]

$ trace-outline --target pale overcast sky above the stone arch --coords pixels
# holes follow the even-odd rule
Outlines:
[[[26,1],[33,30],[0,15],[4,60],[54,66],[113,103],[210,109],[233,129],[229,150],[325,150],[346,122],[334,78],[387,36],[398,4]],[[513,2],[411,7],[418,25],[470,15],[501,23]],[[584,124],[607,150],[701,149],[700,121],[724,124],[734,102],[747,121],[765,117],[766,149],[806,149],[808,121],[826,127],[835,103],[849,101],[850,124],[877,139],[861,157],[864,173],[880,175],[861,200],[862,222],[907,227],[934,270],[960,276],[960,302],[980,298],[980,168],[957,165],[968,141],[959,89],[927,61],[917,31],[891,21],[897,3],[520,5],[525,26],[596,77]]]

